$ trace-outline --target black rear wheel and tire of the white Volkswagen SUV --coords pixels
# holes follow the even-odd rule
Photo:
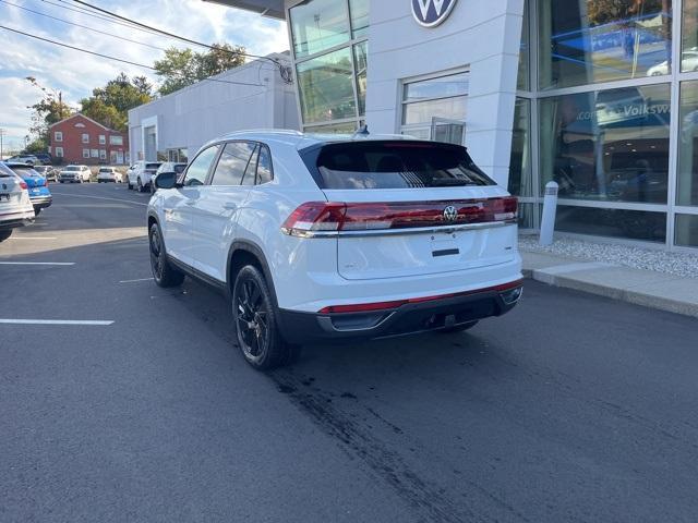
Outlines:
[[[288,365],[298,354],[281,337],[267,282],[256,267],[240,269],[232,288],[232,316],[243,357],[257,370]]]

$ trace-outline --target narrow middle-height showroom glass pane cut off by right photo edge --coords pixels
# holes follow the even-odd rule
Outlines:
[[[698,205],[698,81],[681,84],[677,205]]]

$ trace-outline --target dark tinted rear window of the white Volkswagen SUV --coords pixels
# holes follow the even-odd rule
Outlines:
[[[430,142],[352,142],[301,151],[321,188],[494,185],[465,147]]]

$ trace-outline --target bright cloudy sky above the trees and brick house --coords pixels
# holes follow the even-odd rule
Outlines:
[[[203,0],[86,1],[193,40],[242,45],[253,54],[281,52],[289,47],[284,22]],[[148,65],[164,54],[158,49],[97,34],[26,11],[27,9],[159,48],[188,47],[186,44],[166,36],[89,16],[80,12],[85,8],[72,0],[0,0],[0,25]],[[5,130],[4,150],[23,147],[24,136],[28,134],[31,125],[32,111],[27,106],[37,102],[43,95],[24,80],[26,76],[34,76],[44,87],[61,92],[63,100],[73,109],[79,109],[81,98],[89,96],[93,88],[104,86],[122,71],[129,76],[145,75],[157,84],[157,76],[153,71],[65,49],[0,28],[0,129]]]

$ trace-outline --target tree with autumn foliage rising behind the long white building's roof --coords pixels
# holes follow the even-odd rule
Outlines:
[[[156,60],[156,74],[164,80],[160,95],[169,95],[188,85],[215,74],[234,69],[244,63],[245,48],[229,44],[214,44],[207,52],[170,47],[163,60]]]

